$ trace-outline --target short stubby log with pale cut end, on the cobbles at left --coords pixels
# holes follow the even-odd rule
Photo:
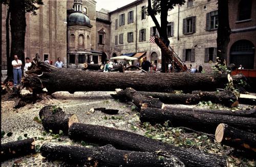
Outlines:
[[[60,107],[47,105],[40,109],[39,117],[42,120],[42,126],[45,130],[52,130],[53,133],[59,133],[62,130],[64,134],[68,134],[69,127],[78,122],[75,114],[65,114]]]

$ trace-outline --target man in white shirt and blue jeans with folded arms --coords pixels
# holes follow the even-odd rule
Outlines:
[[[14,55],[14,60],[12,61],[13,66],[13,82],[14,87],[20,84],[20,79],[22,79],[22,61],[18,60],[18,56]]]

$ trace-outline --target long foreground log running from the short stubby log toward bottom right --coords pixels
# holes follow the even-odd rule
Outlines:
[[[178,157],[185,166],[226,166],[226,159],[221,156],[172,146],[136,133],[104,126],[74,123],[70,126],[69,137],[71,140],[82,140],[100,146],[111,144],[121,150],[167,151]]]

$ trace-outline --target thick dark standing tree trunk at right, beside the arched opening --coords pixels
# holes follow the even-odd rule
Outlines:
[[[229,27],[228,18],[228,0],[218,1],[218,31],[217,31],[217,62],[221,65],[226,65],[227,60],[227,46],[229,43],[229,35],[231,30]]]

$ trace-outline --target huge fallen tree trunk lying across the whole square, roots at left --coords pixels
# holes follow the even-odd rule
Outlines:
[[[115,91],[133,88],[137,91],[171,92],[172,90],[216,90],[228,82],[227,74],[220,73],[96,73],[56,68],[38,63],[23,78],[24,87],[48,93],[57,91]]]

